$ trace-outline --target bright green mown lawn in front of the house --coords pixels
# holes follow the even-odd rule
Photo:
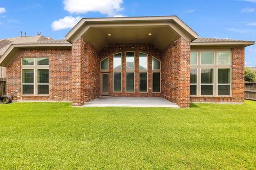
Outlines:
[[[0,169],[255,169],[256,102],[0,105]]]

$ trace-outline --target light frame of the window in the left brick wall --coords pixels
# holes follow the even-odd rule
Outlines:
[[[33,58],[34,59],[34,65],[22,65],[22,59],[23,58]],[[50,96],[50,58],[49,58],[49,65],[38,65],[37,64],[37,58],[49,58],[49,57],[22,57],[21,58],[21,95],[22,96]],[[37,83],[37,71],[38,69],[42,69],[42,70],[49,70],[49,83]],[[34,70],[34,83],[23,83],[22,79],[23,79],[23,71],[22,70]],[[27,84],[27,85],[34,85],[34,94],[23,94],[23,84]],[[49,94],[45,94],[45,95],[38,95],[38,87],[37,85],[39,84],[43,84],[43,85],[49,85]]]

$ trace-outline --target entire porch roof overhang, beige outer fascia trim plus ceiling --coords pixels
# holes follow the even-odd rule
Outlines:
[[[82,19],[67,34],[66,40],[74,43],[82,37],[98,51],[108,43],[153,43],[164,50],[179,36],[188,41],[198,38],[177,16],[149,16]]]

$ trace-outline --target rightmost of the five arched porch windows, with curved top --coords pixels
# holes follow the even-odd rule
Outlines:
[[[161,62],[152,57],[152,91],[161,92]]]

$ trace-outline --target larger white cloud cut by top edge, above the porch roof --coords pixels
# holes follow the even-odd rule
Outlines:
[[[100,12],[108,16],[119,15],[123,0],[63,0],[64,9],[70,13]]]

